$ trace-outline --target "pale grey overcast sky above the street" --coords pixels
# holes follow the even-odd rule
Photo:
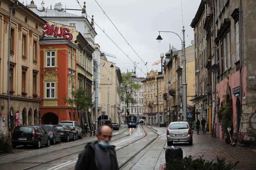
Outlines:
[[[30,4],[30,1],[24,1],[24,5],[26,5],[25,3]],[[42,1],[34,1],[37,7],[40,8],[39,10],[41,10]],[[117,58],[107,56],[107,59],[116,63],[116,66],[120,67],[121,72],[126,72],[127,69],[132,71],[134,69],[133,62],[136,61],[138,66],[136,74],[138,77],[145,77],[145,74],[150,72],[151,69],[161,71],[160,64],[152,66],[152,63],[160,60],[160,53],[169,51],[169,44],[181,50],[181,40],[176,34],[160,33],[163,40],[159,43],[156,40],[159,35],[158,31],[172,31],[183,39],[182,26],[184,26],[186,30],[186,47],[191,45],[191,40],[194,40],[194,31],[190,24],[201,2],[201,0],[84,1],[86,2],[87,15],[90,18],[92,15],[94,16],[94,27],[98,34],[95,37],[95,43],[100,45],[102,51],[117,56]],[[61,2],[62,8],[81,9],[84,1],[44,0],[44,7],[50,8],[50,5],[52,5],[53,9],[56,3]],[[102,10],[105,12],[105,15]],[[81,11],[67,10],[66,12],[81,16]],[[89,17],[88,19],[91,21]],[[122,35],[120,35],[115,27]],[[101,29],[104,29],[105,33]],[[146,62],[147,67],[144,65]]]

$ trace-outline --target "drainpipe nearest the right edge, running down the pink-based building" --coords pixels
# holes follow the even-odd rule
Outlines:
[[[236,114],[236,123],[237,123],[237,130],[236,130],[236,138],[237,138],[237,143],[238,141],[238,132],[239,132],[239,127],[238,127],[238,122],[239,122],[239,117],[242,114],[242,101],[243,101],[243,92],[242,92],[242,1],[239,0],[239,60],[240,60],[240,69],[239,69],[239,83],[240,83],[240,115]],[[242,100],[241,100],[242,99]]]

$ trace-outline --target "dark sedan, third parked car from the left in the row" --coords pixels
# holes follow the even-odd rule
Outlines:
[[[69,142],[69,139],[76,140],[76,133],[68,125],[55,125],[59,130],[60,138]]]

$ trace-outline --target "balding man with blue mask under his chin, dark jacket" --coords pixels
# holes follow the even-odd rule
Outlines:
[[[112,130],[109,126],[100,126],[96,134],[98,141],[88,143],[78,156],[75,170],[117,170],[115,146],[110,145]]]

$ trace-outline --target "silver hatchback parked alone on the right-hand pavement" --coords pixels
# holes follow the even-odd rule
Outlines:
[[[167,145],[173,142],[193,143],[193,130],[188,122],[171,122],[167,129]]]

